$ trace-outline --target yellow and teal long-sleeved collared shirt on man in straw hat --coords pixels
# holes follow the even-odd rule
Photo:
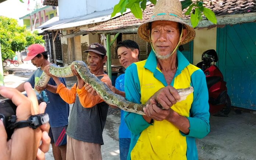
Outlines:
[[[154,120],[150,124],[142,115],[125,112],[125,123],[132,133],[127,160],[198,159],[195,138],[203,138],[210,131],[205,74],[179,51],[177,59],[178,68],[170,85],[174,88],[192,86],[194,92],[171,108],[188,118],[189,134],[185,135],[166,120]],[[145,104],[155,92],[166,86],[153,51],[147,60],[133,63],[125,71],[125,97],[129,101]]]

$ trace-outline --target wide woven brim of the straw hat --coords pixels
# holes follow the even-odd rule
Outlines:
[[[182,23],[184,26],[184,29],[187,30],[187,33],[186,33],[185,39],[179,45],[186,44],[186,43],[192,41],[196,36],[195,29],[193,29],[191,26],[189,26],[187,23],[185,23],[182,19],[175,17],[175,16],[171,16],[171,15],[159,15],[159,16],[149,19],[148,21],[142,23],[139,26],[137,33],[138,33],[139,37],[141,37],[141,39],[143,39],[144,41],[150,42],[147,30],[148,30],[149,23],[154,22],[154,21],[173,21],[173,22]]]

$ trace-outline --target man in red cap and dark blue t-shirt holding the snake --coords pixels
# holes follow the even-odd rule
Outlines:
[[[51,64],[47,59],[48,55],[45,48],[40,44],[32,44],[28,47],[28,56],[24,61],[31,60],[33,65],[38,67],[29,78],[28,82],[32,87],[35,87],[36,90],[43,91],[44,94],[46,94],[46,96],[44,96],[47,99],[45,112],[48,113],[50,117],[49,136],[53,147],[53,157],[55,160],[65,160],[67,150],[67,137],[65,132],[68,125],[69,105],[61,99],[60,95],[56,94],[57,86],[52,78],[45,87],[35,86],[35,82],[39,80],[45,66]],[[65,84],[64,78],[59,78],[59,80]],[[16,87],[17,90],[23,92],[24,83]]]

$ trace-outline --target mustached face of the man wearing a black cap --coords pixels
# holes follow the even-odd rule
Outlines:
[[[89,51],[87,56],[88,68],[91,72],[95,72],[103,69],[103,65],[106,62],[106,56],[104,58],[101,57],[100,54]]]

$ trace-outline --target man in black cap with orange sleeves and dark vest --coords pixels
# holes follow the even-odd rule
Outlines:
[[[104,73],[103,65],[107,61],[106,49],[99,43],[89,45],[87,62],[90,72],[101,81],[111,86],[111,80]],[[72,67],[72,72],[77,76],[77,83],[69,90],[60,80],[53,77],[57,84],[57,93],[67,103],[74,103],[67,127],[67,159],[97,159],[101,160],[100,145],[103,145],[102,132],[106,123],[109,106],[98,96],[92,95],[84,87],[85,82]]]

